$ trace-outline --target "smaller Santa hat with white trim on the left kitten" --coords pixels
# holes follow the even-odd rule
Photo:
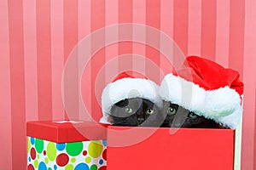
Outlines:
[[[132,72],[135,74],[134,72]],[[100,122],[111,124],[109,119],[112,106],[123,99],[143,98],[162,107],[159,96],[159,85],[141,75],[131,76],[129,72],[122,72],[113,82],[109,83],[102,91],[102,118]]]

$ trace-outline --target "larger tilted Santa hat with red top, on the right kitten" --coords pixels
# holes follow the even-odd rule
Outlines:
[[[161,82],[161,98],[235,129],[242,113],[239,73],[196,56],[188,57],[183,65]]]

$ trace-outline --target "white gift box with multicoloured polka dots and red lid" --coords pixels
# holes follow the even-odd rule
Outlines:
[[[104,127],[91,122],[61,121],[27,122],[26,129],[27,170],[107,169]],[[83,129],[93,136],[84,137]]]

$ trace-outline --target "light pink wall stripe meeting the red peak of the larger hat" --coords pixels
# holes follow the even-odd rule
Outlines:
[[[189,0],[188,55],[201,56],[201,0]]]

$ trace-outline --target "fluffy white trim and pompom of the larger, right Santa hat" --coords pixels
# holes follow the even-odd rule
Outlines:
[[[206,90],[172,73],[166,75],[162,81],[160,96],[199,116],[212,119],[224,127],[233,129],[236,128],[242,113],[241,98],[236,90],[228,86]]]

